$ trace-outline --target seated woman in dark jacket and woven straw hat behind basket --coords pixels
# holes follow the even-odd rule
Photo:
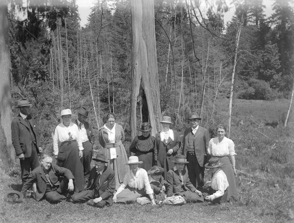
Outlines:
[[[184,155],[177,155],[175,160],[176,166],[170,169],[166,174],[167,180],[167,196],[172,196],[174,193],[183,194],[187,202],[203,202],[201,191],[198,191],[190,182],[188,171],[185,168],[187,162]]]

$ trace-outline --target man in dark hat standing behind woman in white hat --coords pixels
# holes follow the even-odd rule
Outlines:
[[[86,119],[88,117],[88,108],[81,106],[81,108],[78,110],[78,118],[74,121],[74,123],[76,123],[80,131],[82,144],[84,148],[83,158],[81,158],[81,161],[83,163],[84,177],[86,183],[91,171],[91,159],[93,156],[93,145],[95,143],[92,126],[88,122],[86,122]]]

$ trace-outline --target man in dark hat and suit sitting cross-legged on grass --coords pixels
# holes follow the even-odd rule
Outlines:
[[[97,154],[95,166],[91,169],[88,185],[84,191],[73,195],[74,202],[93,205],[95,207],[111,206],[113,192],[115,191],[115,178],[113,169],[105,166],[106,156]]]

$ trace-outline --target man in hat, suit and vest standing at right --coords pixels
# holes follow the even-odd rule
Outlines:
[[[187,161],[188,175],[194,187],[204,185],[204,164],[207,159],[207,148],[210,140],[209,132],[206,128],[198,125],[201,118],[197,113],[191,113],[189,123],[191,128],[187,128],[183,136],[182,155]]]

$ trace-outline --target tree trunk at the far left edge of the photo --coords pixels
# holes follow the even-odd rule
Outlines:
[[[7,3],[5,0],[0,0],[0,168],[5,171],[9,170],[9,162],[15,162],[15,151],[11,141],[12,110],[8,46]]]

